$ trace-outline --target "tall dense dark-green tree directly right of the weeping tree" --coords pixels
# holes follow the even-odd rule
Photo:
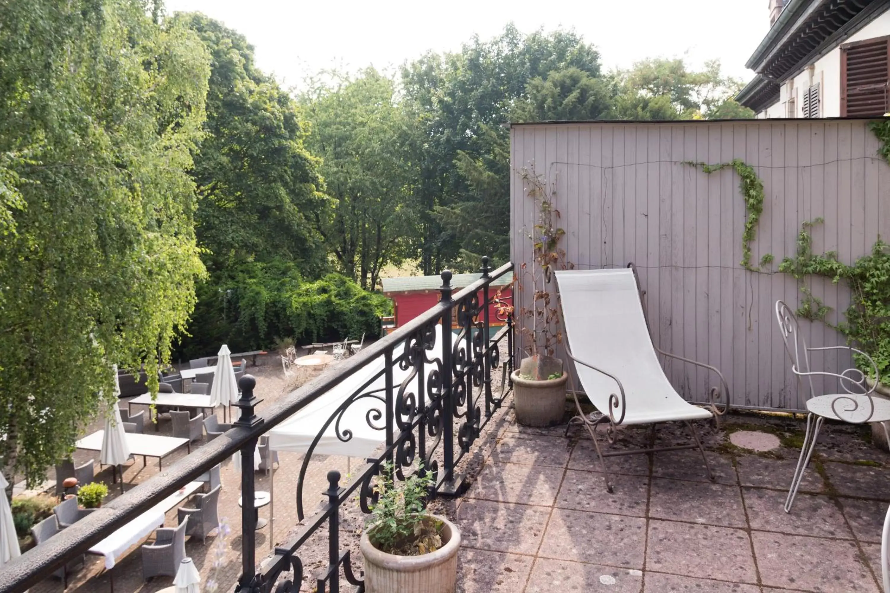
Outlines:
[[[206,133],[192,172],[207,267],[280,257],[319,273],[325,250],[312,212],[327,199],[295,101],[255,67],[244,36],[200,13],[174,21],[195,31],[212,57]]]

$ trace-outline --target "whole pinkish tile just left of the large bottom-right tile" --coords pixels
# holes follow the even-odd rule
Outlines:
[[[729,527],[652,519],[646,567],[662,573],[756,583],[748,533]]]

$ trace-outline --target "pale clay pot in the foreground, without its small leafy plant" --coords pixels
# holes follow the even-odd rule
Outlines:
[[[361,555],[365,557],[365,593],[454,593],[460,531],[445,517],[433,517],[444,524],[441,529],[442,547],[429,554],[387,554],[371,544],[367,530],[361,534]]]

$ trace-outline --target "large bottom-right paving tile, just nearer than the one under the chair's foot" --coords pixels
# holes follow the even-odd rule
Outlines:
[[[763,584],[834,593],[879,593],[854,541],[753,532]]]

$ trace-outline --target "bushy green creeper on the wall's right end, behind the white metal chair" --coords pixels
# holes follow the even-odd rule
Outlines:
[[[837,284],[844,281],[851,292],[850,306],[845,311],[846,321],[837,325],[849,343],[867,352],[878,365],[878,374],[890,372],[890,245],[881,239],[872,246],[871,253],[848,266],[837,260],[836,252],[813,254],[810,228],[821,219],[804,222],[797,236],[797,254],[782,260],[779,271],[791,274],[800,282],[804,297],[797,315],[811,320],[824,320],[829,309],[813,297],[805,286],[807,275],[824,276]],[[871,366],[856,356],[863,372]]]

